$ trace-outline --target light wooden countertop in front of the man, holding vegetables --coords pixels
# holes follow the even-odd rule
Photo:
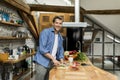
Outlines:
[[[70,66],[65,69],[53,68],[49,73],[49,80],[118,80],[115,75],[95,67],[89,60],[87,64],[79,65],[78,70]]]

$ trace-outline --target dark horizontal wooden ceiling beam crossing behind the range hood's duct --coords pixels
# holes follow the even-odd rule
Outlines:
[[[74,13],[74,6],[54,6],[54,5],[41,5],[41,4],[29,4],[29,6],[31,8],[31,11]],[[80,11],[83,14],[98,14],[98,15],[120,14],[120,9],[85,10],[81,7]]]

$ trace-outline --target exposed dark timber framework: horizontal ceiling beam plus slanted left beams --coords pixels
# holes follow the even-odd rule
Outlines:
[[[5,2],[13,7],[15,7],[22,16],[26,16],[26,23],[28,23],[33,36],[38,39],[38,25],[36,21],[34,21],[34,15],[31,14],[32,11],[45,11],[45,12],[60,12],[60,13],[74,13],[74,6],[53,6],[53,5],[41,5],[41,4],[26,4],[21,0],[2,0],[1,2]],[[119,9],[115,10],[85,10],[80,8],[80,13],[82,14],[97,14],[97,15],[115,15],[120,14]],[[30,21],[30,22],[29,22]]]

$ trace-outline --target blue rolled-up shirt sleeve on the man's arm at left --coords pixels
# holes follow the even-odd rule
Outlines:
[[[49,53],[50,51],[46,48],[47,46],[47,41],[48,41],[48,31],[47,30],[43,30],[39,36],[39,50],[40,50],[40,54],[45,54],[45,53]]]

